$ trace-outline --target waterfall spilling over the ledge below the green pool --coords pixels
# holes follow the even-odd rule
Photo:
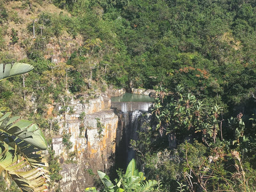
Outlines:
[[[145,96],[145,95],[144,95]],[[130,140],[137,140],[143,114],[147,113],[152,102],[112,102],[112,108],[118,111],[118,131],[116,135],[116,168],[125,169],[135,151],[130,148]]]

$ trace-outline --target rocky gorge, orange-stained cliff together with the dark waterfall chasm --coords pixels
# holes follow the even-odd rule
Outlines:
[[[131,158],[134,151],[129,148],[129,140],[137,137],[136,131],[143,123],[138,119],[143,113],[138,110],[148,110],[151,104],[135,103],[134,112],[122,111],[120,103],[112,103],[115,109],[111,108],[111,96],[124,92],[121,89],[98,94],[95,98],[88,95],[71,98],[68,108],[72,108],[73,113],[57,116],[60,130],[58,136],[52,138],[52,150],[59,157],[62,168],[60,190],[83,191],[94,185],[97,170],[109,172],[115,160],[122,159],[124,165],[118,165],[122,167],[127,158]],[[59,106],[58,110],[61,109]],[[68,135],[69,148],[64,135]]]

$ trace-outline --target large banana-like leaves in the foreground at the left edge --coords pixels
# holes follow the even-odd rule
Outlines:
[[[0,64],[0,81],[31,71],[26,63]],[[23,192],[44,191],[49,176],[42,167],[47,166],[40,150],[46,150],[46,138],[31,121],[0,113],[0,174],[17,183]]]

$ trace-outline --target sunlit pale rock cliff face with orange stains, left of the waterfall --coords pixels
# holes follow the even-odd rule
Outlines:
[[[92,175],[97,170],[106,171],[113,165],[118,116],[110,109],[106,95],[72,99],[69,106],[74,113],[58,117],[61,136],[53,138],[52,147],[60,156],[61,190],[84,191],[94,185]],[[70,134],[70,150],[64,145],[63,132]]]

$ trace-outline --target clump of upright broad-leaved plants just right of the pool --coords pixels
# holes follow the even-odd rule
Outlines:
[[[152,111],[156,119],[156,129],[163,134],[175,134],[179,142],[186,137],[196,137],[201,134],[201,139],[207,145],[209,141],[215,143],[221,119],[218,119],[222,107],[211,106],[204,100],[198,100],[192,94],[183,95],[177,86],[174,95],[168,96],[164,101],[162,97],[156,100]]]

